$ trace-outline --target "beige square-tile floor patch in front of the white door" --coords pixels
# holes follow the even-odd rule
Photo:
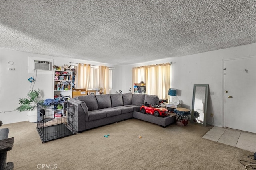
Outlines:
[[[203,138],[248,150],[253,153],[256,152],[255,133],[214,126]]]

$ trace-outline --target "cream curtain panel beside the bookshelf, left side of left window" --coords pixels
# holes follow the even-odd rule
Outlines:
[[[87,90],[90,83],[91,65],[78,63],[77,68],[78,75],[76,75],[76,88],[85,88]]]

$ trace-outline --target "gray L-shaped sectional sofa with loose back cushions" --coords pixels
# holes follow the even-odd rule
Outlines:
[[[68,100],[68,104],[77,106],[76,130],[78,133],[134,116],[163,127],[175,122],[175,116],[154,117],[140,113],[140,105],[145,102],[158,104],[159,98],[156,95],[124,93],[85,95]]]

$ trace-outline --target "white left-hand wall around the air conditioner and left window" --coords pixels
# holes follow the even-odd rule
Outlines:
[[[40,89],[42,91],[42,97],[53,98],[53,72],[50,74],[40,74],[46,71],[39,71],[38,74],[28,73],[30,66],[28,66],[29,57],[39,57],[48,60],[53,60],[56,66],[63,66],[64,64],[74,63],[87,63],[92,65],[104,65],[114,67],[113,76],[113,89],[110,93],[114,93],[121,89],[119,84],[119,77],[121,74],[120,66],[103,64],[97,62],[83,61],[70,58],[53,57],[48,55],[39,55],[34,53],[26,53],[20,51],[13,51],[8,49],[1,49],[0,51],[0,120],[4,124],[15,123],[20,121],[28,121],[27,112],[13,111],[18,107],[18,99],[25,98],[30,90],[31,83],[28,78],[34,77],[33,89]],[[8,61],[13,61],[13,65],[9,65]],[[14,68],[14,71],[8,70],[8,68]],[[49,72],[48,72],[49,73]],[[11,112],[9,112],[11,111]],[[5,113],[2,113],[5,112]]]

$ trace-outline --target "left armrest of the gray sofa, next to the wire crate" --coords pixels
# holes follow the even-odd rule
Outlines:
[[[88,121],[89,118],[89,111],[86,106],[86,104],[81,101],[81,100],[76,100],[76,99],[70,99],[68,100],[69,104],[77,106],[77,131],[83,131],[85,130],[86,122]]]

